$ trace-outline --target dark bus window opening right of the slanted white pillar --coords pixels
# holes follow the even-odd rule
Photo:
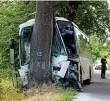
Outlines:
[[[77,54],[77,48],[74,27],[72,23],[70,21],[59,20],[57,21],[57,24],[69,56],[75,56]]]

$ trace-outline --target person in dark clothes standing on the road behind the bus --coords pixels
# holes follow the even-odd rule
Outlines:
[[[101,64],[102,64],[102,67],[101,67],[101,78],[105,78],[105,73],[106,73],[106,64],[107,64],[107,61],[106,61],[106,56],[104,56],[102,59],[101,59]]]

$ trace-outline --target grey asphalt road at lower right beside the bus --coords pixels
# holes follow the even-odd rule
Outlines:
[[[72,101],[110,101],[110,71],[106,72],[106,79],[101,79],[100,70],[94,70],[91,84]]]

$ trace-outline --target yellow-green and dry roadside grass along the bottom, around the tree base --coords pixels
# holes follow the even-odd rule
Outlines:
[[[13,87],[11,72],[10,69],[0,69],[1,101],[72,101],[76,94],[73,88],[46,85],[17,92]]]

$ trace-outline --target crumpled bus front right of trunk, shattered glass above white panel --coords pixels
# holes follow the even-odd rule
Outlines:
[[[69,67],[69,61],[67,60],[66,48],[56,24],[52,44],[52,73],[64,78],[67,68]]]

